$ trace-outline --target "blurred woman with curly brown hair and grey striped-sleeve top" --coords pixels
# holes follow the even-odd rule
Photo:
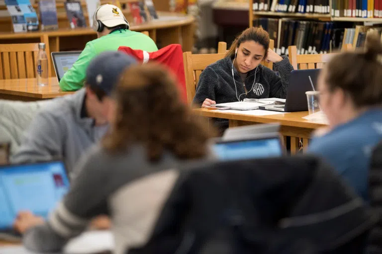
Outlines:
[[[19,214],[15,228],[25,232],[27,249],[59,252],[86,230],[92,217],[106,214],[112,221],[115,253],[125,253],[149,237],[177,181],[177,169],[210,157],[212,133],[191,116],[162,67],[145,64],[125,70],[114,96],[110,133],[81,159],[78,176],[49,220]]]

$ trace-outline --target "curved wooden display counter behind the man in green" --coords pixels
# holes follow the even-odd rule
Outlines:
[[[130,30],[148,31],[149,36],[159,47],[181,44],[183,51],[192,51],[195,18],[191,15],[170,12],[158,12],[158,15],[160,19],[132,25]],[[49,42],[44,43],[49,43],[51,52],[83,50],[88,41],[96,38],[96,33],[91,28],[60,28],[55,31],[26,33],[0,32],[0,44],[41,42],[43,34],[48,35]]]

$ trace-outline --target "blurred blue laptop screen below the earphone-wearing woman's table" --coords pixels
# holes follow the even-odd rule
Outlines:
[[[216,143],[214,152],[221,160],[264,158],[283,153],[279,138]]]

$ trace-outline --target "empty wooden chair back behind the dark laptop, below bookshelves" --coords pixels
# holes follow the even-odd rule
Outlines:
[[[352,45],[346,44],[342,47],[342,51],[351,50]],[[289,62],[294,69],[320,69],[323,67],[324,63],[327,61],[328,55],[336,54],[312,54],[312,55],[297,55],[297,47],[289,46]]]

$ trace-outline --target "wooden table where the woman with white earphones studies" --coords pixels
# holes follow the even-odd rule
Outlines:
[[[253,124],[280,123],[280,133],[290,137],[290,152],[292,154],[298,151],[299,139],[302,138],[303,147],[307,147],[309,138],[314,129],[327,126],[325,123],[312,122],[303,119],[307,116],[307,111],[292,112],[269,116],[249,116],[245,114],[226,113],[224,110],[194,109],[194,114],[203,117],[223,118],[229,120],[229,127],[237,127]]]

